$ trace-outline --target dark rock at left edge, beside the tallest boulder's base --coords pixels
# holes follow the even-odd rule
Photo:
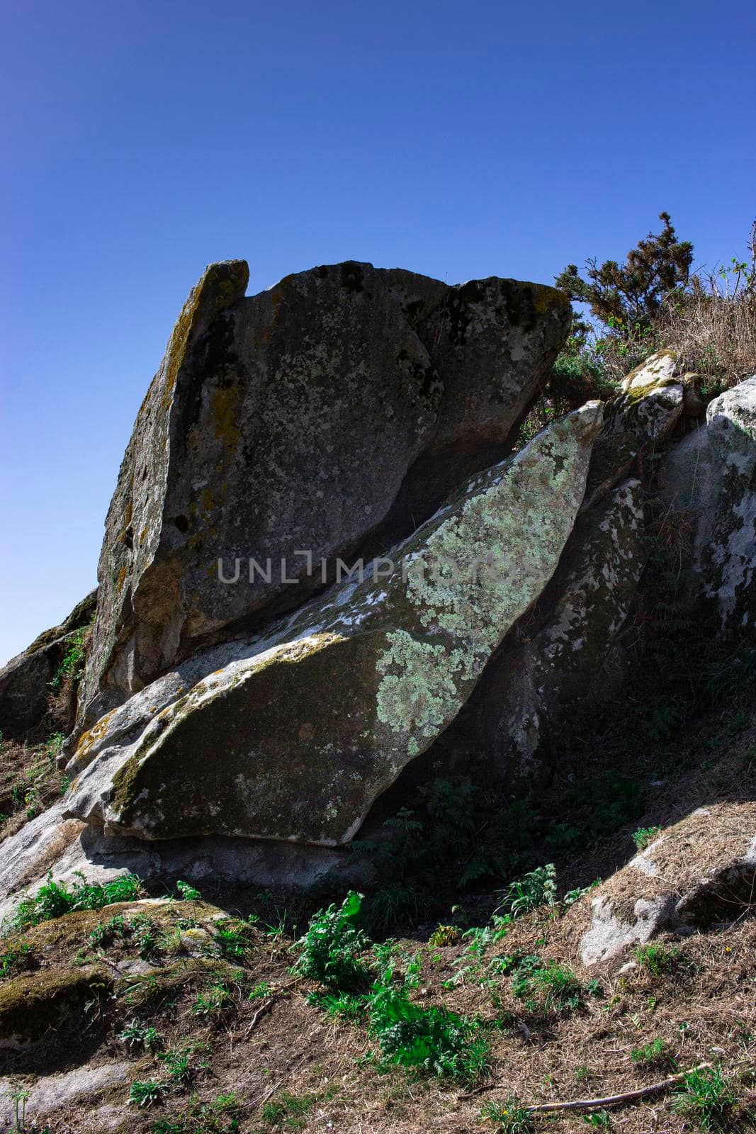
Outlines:
[[[0,730],[6,736],[19,736],[41,723],[49,708],[50,682],[76,632],[92,621],[96,594],[87,594],[60,626],[40,634],[0,669]]]

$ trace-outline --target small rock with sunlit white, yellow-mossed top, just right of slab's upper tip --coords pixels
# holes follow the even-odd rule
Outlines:
[[[683,406],[685,384],[674,378],[676,366],[674,352],[659,350],[622,380],[591,458],[584,510],[628,475],[640,452],[669,438]]]

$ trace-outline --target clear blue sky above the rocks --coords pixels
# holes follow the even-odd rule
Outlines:
[[[756,212],[745,0],[5,0],[0,663],[95,582],[135,414],[213,260],[551,282]]]

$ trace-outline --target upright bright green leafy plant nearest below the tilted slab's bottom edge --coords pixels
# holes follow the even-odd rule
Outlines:
[[[356,925],[362,903],[363,895],[350,890],[338,909],[330,905],[314,915],[294,946],[300,953],[295,965],[298,973],[343,992],[365,984],[368,971],[359,954],[368,940]]]

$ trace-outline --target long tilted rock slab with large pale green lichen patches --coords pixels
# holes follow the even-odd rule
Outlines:
[[[67,814],[145,839],[348,840],[549,582],[601,421],[588,403],[474,476],[385,579],[196,657],[104,718],[71,761]]]

